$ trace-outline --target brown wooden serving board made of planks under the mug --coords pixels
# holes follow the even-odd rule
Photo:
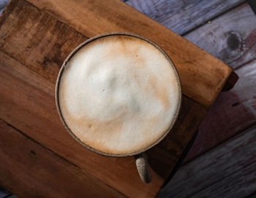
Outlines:
[[[20,197],[155,197],[208,107],[237,79],[221,60],[118,0],[13,0],[0,27],[0,186]],[[178,121],[147,151],[149,184],[140,181],[133,157],[104,157],[80,146],[56,111],[64,59],[82,41],[110,31],[151,39],[181,76]]]

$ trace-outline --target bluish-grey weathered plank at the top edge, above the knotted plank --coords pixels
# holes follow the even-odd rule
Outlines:
[[[157,20],[178,34],[183,34],[206,23],[211,18],[241,4],[244,0],[129,0],[135,9]]]

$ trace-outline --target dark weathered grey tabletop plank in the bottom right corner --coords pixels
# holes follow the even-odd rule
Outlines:
[[[159,197],[246,197],[256,189],[256,127],[181,167]]]

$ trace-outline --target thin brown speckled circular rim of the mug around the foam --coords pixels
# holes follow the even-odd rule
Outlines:
[[[152,143],[150,146],[146,147],[146,148],[143,148],[141,149],[140,151],[136,151],[136,152],[132,152],[132,153],[128,153],[128,154],[111,154],[111,153],[106,153],[106,152],[103,152],[103,151],[99,151],[97,150],[96,148],[93,148],[91,146],[88,146],[86,143],[83,143],[82,140],[80,140],[73,132],[71,129],[69,129],[69,126],[67,125],[67,123],[65,122],[64,120],[64,117],[61,113],[61,108],[60,108],[60,105],[59,105],[59,84],[61,82],[61,76],[63,74],[63,71],[67,65],[67,62],[72,58],[73,55],[75,55],[76,52],[78,52],[78,50],[80,50],[81,47],[83,47],[84,45],[86,44],[89,44],[91,41],[94,41],[96,39],[100,39],[102,37],[105,37],[105,36],[116,36],[116,35],[124,35],[124,36],[133,36],[135,38],[138,38],[138,39],[142,39],[144,41],[147,41],[149,44],[152,44],[154,47],[157,47],[157,49],[162,52],[163,55],[165,55],[165,58],[167,58],[167,60],[170,62],[170,65],[173,67],[174,69],[174,73],[176,74],[176,77],[178,79],[177,83],[178,83],[178,105],[176,107],[176,114],[174,115],[173,117],[173,122],[170,124],[170,126],[168,127],[168,129],[165,131],[165,133],[154,143]],[[157,44],[155,44],[153,41],[147,39],[146,37],[144,36],[140,36],[140,35],[137,35],[135,33],[128,33],[128,32],[109,32],[109,33],[102,33],[102,34],[99,34],[97,36],[93,36],[91,37],[90,39],[87,39],[86,41],[83,41],[81,44],[78,45],[78,47],[75,48],[75,50],[72,50],[72,52],[70,52],[70,54],[68,55],[68,57],[64,60],[64,63],[62,64],[61,66],[61,69],[59,71],[59,75],[57,77],[57,80],[56,80],[56,87],[55,87],[55,101],[56,101],[56,107],[57,107],[57,111],[59,113],[59,117],[61,119],[61,122],[64,124],[64,127],[66,128],[66,130],[69,132],[69,134],[72,136],[72,138],[74,138],[75,140],[78,141],[78,143],[80,143],[80,145],[88,148],[90,151],[94,151],[95,153],[97,154],[102,154],[104,156],[107,156],[107,157],[129,157],[129,156],[134,156],[134,155],[137,155],[137,154],[141,154],[145,151],[147,151],[148,149],[152,148],[153,146],[156,146],[158,143],[160,143],[166,136],[167,134],[170,132],[170,130],[173,128],[174,124],[176,123],[177,121],[177,118],[178,118],[178,114],[181,110],[181,98],[182,98],[182,92],[181,92],[181,79],[180,77],[178,76],[178,71],[176,69],[176,66],[174,65],[173,61],[170,59],[170,57],[167,55],[167,53],[162,50],[161,47],[159,47]]]

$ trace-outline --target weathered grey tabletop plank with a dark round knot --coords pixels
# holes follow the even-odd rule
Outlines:
[[[242,4],[185,35],[185,38],[238,68],[256,59],[256,15],[249,4]]]

